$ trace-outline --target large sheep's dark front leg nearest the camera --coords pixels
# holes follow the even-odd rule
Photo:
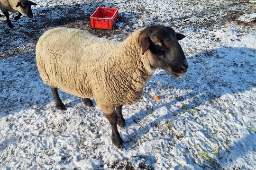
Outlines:
[[[103,112],[104,113],[104,112]],[[118,148],[121,148],[124,141],[123,139],[120,137],[118,128],[117,128],[117,123],[118,123],[118,116],[115,112],[115,110],[113,110],[113,112],[111,112],[110,114],[104,113],[104,115],[106,116],[106,118],[109,120],[110,125],[111,125],[111,130],[112,130],[112,134],[111,134],[111,138],[112,138],[112,143],[117,146]]]

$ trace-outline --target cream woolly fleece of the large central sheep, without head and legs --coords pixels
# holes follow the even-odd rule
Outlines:
[[[43,34],[36,47],[43,81],[82,98],[94,98],[104,113],[141,99],[154,72],[148,51],[142,55],[139,35],[124,42],[99,38],[73,28],[55,28]]]

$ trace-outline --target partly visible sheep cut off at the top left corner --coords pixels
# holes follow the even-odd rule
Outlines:
[[[9,13],[10,12],[18,12],[18,15],[14,17],[15,20],[18,20],[20,16],[23,14],[26,14],[27,17],[31,18],[33,17],[33,13],[31,10],[31,5],[37,5],[34,2],[31,2],[30,0],[0,0],[0,10],[3,12],[7,19],[7,23],[9,27],[13,27],[13,25],[10,22],[9,19]]]

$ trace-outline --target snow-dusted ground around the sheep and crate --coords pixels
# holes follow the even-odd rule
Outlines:
[[[255,170],[256,3],[32,1],[38,4],[34,18],[15,21],[11,15],[13,29],[0,17],[1,170]],[[99,6],[119,8],[114,30],[90,28]],[[127,126],[119,132],[125,144],[118,149],[98,106],[87,108],[60,92],[67,110],[55,108],[37,71],[35,46],[58,26],[122,41],[152,24],[187,36],[180,43],[189,71],[176,79],[157,70],[143,98],[123,107]]]

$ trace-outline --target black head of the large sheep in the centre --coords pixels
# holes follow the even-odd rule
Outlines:
[[[142,54],[150,51],[150,64],[162,68],[175,77],[181,77],[187,72],[188,62],[178,40],[186,37],[177,34],[171,27],[155,25],[146,27],[140,34],[139,44]]]

